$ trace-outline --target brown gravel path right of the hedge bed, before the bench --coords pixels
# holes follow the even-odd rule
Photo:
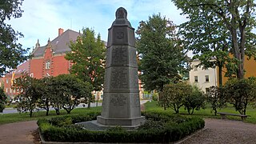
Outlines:
[[[205,119],[206,130],[187,138],[182,144],[225,143],[256,144],[256,125],[242,121]]]

